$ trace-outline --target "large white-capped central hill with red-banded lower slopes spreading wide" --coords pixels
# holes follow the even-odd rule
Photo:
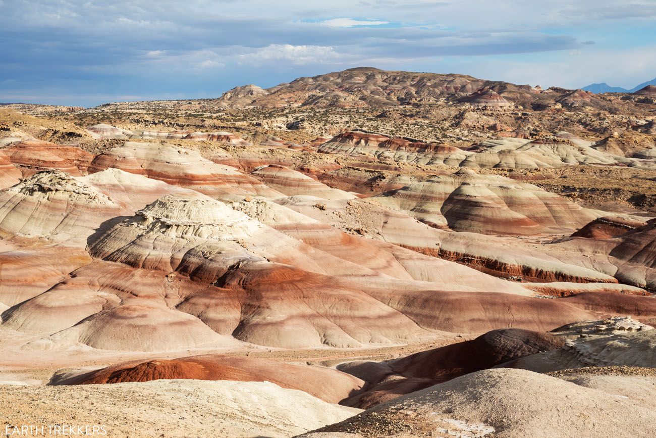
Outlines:
[[[245,204],[264,206],[253,201]],[[291,216],[294,214],[297,213]],[[335,242],[344,242],[343,235],[328,231],[337,237]],[[358,250],[358,239],[353,243],[352,249]],[[363,240],[363,244],[369,243]],[[400,281],[377,274],[382,271],[380,267],[373,271],[355,263],[356,259],[348,261],[348,255],[338,253],[339,248],[329,242],[319,245],[314,239],[312,245],[318,246],[319,251],[201,194],[168,195],[98,234],[91,242],[90,250],[96,257],[127,263],[136,271],[121,265],[127,271],[120,273],[111,263],[94,263],[76,271],[73,278],[57,284],[43,296],[7,313],[4,324],[37,333],[63,330],[44,341],[31,343],[34,348],[80,341],[104,349],[155,351],[171,345],[180,348],[207,343],[227,345],[230,338],[226,336],[231,334],[241,340],[281,347],[321,343],[359,346],[419,339],[428,335],[426,329],[483,332],[515,322],[549,330],[571,320],[590,318],[589,313],[566,303],[495,297],[487,291],[510,292],[516,288],[520,292],[523,288],[511,288],[500,280],[487,281],[480,274],[476,274],[481,276],[480,282],[472,280],[469,286],[472,292],[465,292],[462,286],[441,287],[440,281],[459,283],[457,278],[467,277],[472,271],[430,257],[422,259],[406,250],[376,244],[378,251],[391,251],[394,259],[390,261],[399,263],[402,270],[395,275],[406,276]],[[276,264],[276,260],[293,261],[295,268]],[[448,269],[449,266],[453,266],[454,274],[462,273],[450,278],[430,274],[432,267]],[[159,273],[150,273],[152,269]],[[189,275],[200,284],[184,277],[179,283],[171,284],[173,271]],[[344,278],[347,272],[349,276]],[[111,278],[110,273],[120,274]],[[224,290],[213,293],[202,286],[218,278],[221,280],[216,286]],[[419,278],[436,283],[422,284],[416,280]],[[485,288],[483,294],[474,292],[480,290],[476,283]],[[168,290],[169,284],[184,286],[178,298],[141,292]],[[308,288],[317,294],[300,293]],[[525,290],[520,294],[525,294]],[[82,297],[85,305],[74,306],[75,299]],[[467,303],[472,300],[483,300],[487,308],[499,309],[499,313],[471,307]],[[335,305],[326,305],[333,302]],[[462,315],[462,320],[449,317],[449,312],[434,315],[423,310],[436,303]],[[252,309],[252,313],[242,315],[239,309],[243,305]],[[512,315],[502,310],[509,305],[514,309]],[[71,311],[72,306],[75,312]],[[60,316],[39,316],[53,313]],[[377,318],[372,322],[371,318],[359,315],[377,315]],[[277,324],[270,324],[272,320]],[[476,321],[474,326],[472,321]],[[161,330],[157,330],[158,324]],[[140,328],[140,336],[129,336],[135,327]]]

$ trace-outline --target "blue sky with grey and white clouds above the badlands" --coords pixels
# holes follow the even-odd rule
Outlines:
[[[197,99],[357,66],[632,88],[656,0],[0,0],[0,102]]]

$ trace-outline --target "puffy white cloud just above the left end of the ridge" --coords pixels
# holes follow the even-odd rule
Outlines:
[[[292,64],[323,64],[335,62],[340,55],[332,46],[270,44],[255,51],[237,56],[242,64],[266,64],[270,61],[286,61]]]

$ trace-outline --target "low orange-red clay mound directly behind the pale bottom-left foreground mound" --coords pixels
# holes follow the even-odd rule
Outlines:
[[[245,356],[201,355],[179,359],[123,362],[75,376],[55,384],[149,382],[159,379],[234,380],[272,382],[283,388],[299,389],[329,403],[337,403],[359,391],[364,382],[350,374]],[[326,384],[330,382],[330,384]]]

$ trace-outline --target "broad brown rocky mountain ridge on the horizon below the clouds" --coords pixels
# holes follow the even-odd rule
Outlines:
[[[234,87],[216,99],[220,106],[283,108],[366,108],[466,102],[475,106],[529,106],[550,102],[571,90],[517,85],[464,74],[387,71],[349,68],[318,76],[298,77],[268,89],[257,85]],[[495,95],[501,98],[495,98]],[[494,98],[494,99],[491,99]]]

